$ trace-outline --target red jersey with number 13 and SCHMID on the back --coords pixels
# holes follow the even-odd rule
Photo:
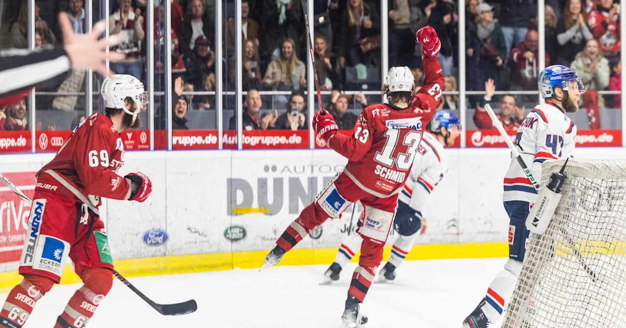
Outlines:
[[[422,132],[433,118],[444,78],[436,57],[424,57],[424,84],[408,108],[368,106],[354,124],[352,136],[334,134],[328,146],[348,159],[344,173],[364,191],[389,197],[402,190]]]

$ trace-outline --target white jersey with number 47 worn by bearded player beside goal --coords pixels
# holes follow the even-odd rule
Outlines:
[[[576,126],[558,107],[545,103],[536,106],[521,123],[515,136],[515,147],[537,182],[541,180],[541,164],[562,157],[572,157]],[[535,187],[515,158],[506,172],[503,201],[525,201],[533,204]]]

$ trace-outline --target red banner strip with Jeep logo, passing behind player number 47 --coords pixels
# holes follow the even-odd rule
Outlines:
[[[509,132],[511,140],[515,140],[515,131]],[[622,146],[621,130],[578,130],[574,137],[577,147],[620,147]],[[505,139],[498,130],[466,131],[466,146],[470,147],[506,147]]]

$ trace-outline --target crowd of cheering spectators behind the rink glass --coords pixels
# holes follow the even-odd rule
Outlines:
[[[128,55],[126,62],[111,63],[110,67],[116,73],[132,74],[145,81],[146,1],[109,1],[110,12],[101,10],[102,1],[92,2],[97,14],[94,20],[109,16],[110,34],[124,36],[124,41],[111,51]],[[217,79],[221,79],[226,91],[233,91],[236,72],[241,70],[244,91],[254,91],[252,96],[245,96],[245,117],[250,117],[244,120],[245,127],[307,128],[307,110],[316,104],[307,104],[303,93],[307,78],[312,74],[306,64],[308,41],[300,1],[242,1],[242,36],[239,38],[242,62],[235,60],[235,48],[239,45],[235,44],[234,1],[223,2],[223,26],[219,28],[215,26],[215,0],[170,1],[172,52],[165,53],[164,1],[155,0],[155,32],[148,37],[155,38],[157,90],[165,86],[164,59],[172,56],[173,81],[176,81],[172,86],[175,127],[187,126],[185,115],[189,111],[215,109],[215,96],[210,92],[215,91]],[[381,17],[389,23],[389,66],[409,66],[418,85],[423,80],[423,67],[414,33],[428,24],[441,38],[438,58],[446,78],[444,91],[458,91],[459,69],[465,72],[466,89],[486,92],[486,96],[490,93],[486,90],[487,84],[499,91],[536,90],[539,72],[536,1],[465,0],[466,20],[461,27],[465,29],[465,49],[461,49],[465,67],[458,64],[458,0],[389,0],[382,15],[380,0],[311,1],[318,82],[322,91],[332,91],[330,96],[324,97],[324,105],[348,127],[352,115],[361,109],[361,99],[365,103],[367,99],[362,94],[350,99],[351,96],[343,92],[366,88],[376,91],[380,87]],[[620,96],[602,96],[595,92],[620,89],[618,0],[546,0],[545,3],[546,66],[563,64],[578,72],[587,91],[591,91],[583,95],[583,108],[591,107],[598,112],[597,108],[620,107]],[[14,15],[5,46],[24,48],[28,44],[26,1],[12,2],[8,10]],[[63,41],[56,24],[59,11],[69,13],[75,32],[86,32],[83,0],[37,0],[34,7],[36,47]],[[223,33],[222,58],[216,58],[214,51],[217,32]],[[216,61],[223,61],[225,74],[215,72]],[[81,92],[85,89],[85,80],[85,71],[76,70],[60,81],[38,87],[38,91]],[[372,84],[371,81],[378,82]],[[98,85],[95,81],[95,88]],[[259,91],[286,91],[290,95],[285,92],[282,96],[265,97],[260,96]],[[500,104],[517,101],[521,107],[515,108],[538,101],[535,95],[492,94],[491,97]],[[38,96],[37,109],[80,112],[84,111],[84,98],[71,94]],[[380,97],[370,99],[380,101]],[[485,99],[483,94],[468,97],[469,109],[476,110],[479,117]],[[224,107],[232,110],[234,103],[225,97]],[[345,107],[344,103],[347,103]],[[249,106],[259,106],[259,109],[248,109]],[[459,97],[444,95],[438,109],[459,110]],[[161,110],[165,112],[165,108]],[[508,109],[501,110],[501,117],[509,117]],[[521,116],[520,111],[516,114]],[[4,111],[0,115],[7,116]],[[165,121],[163,114],[156,117]],[[7,122],[8,119],[3,124],[5,128]],[[475,120],[475,124],[481,128],[480,120]],[[232,127],[232,124],[226,125]]]

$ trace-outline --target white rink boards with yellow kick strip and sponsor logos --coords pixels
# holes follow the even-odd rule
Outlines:
[[[431,194],[426,232],[408,259],[506,256],[501,196],[509,152],[446,149],[446,155],[448,174]],[[52,156],[3,155],[0,171],[21,175],[20,184],[32,190],[32,172]],[[626,151],[586,148],[578,157],[623,158]],[[141,171],[153,183],[145,203],[106,201],[101,207],[116,269],[126,276],[259,267],[285,227],[346,163],[330,150],[135,151],[126,152],[125,161],[121,175]],[[0,189],[0,289],[19,281],[19,236],[26,235],[29,211],[19,202]],[[352,207],[327,221],[281,264],[332,262],[360,212],[357,207],[352,225]],[[76,281],[71,266],[66,273],[64,282]]]

